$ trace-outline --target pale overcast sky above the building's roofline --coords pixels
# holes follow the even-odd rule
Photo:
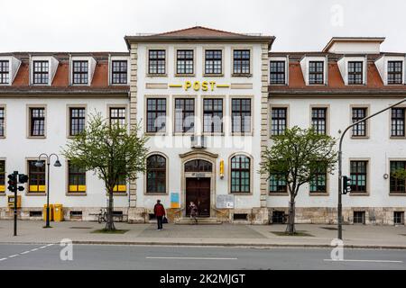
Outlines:
[[[384,36],[406,52],[405,0],[0,0],[0,51],[125,51],[125,35],[206,26],[320,50],[332,36]]]

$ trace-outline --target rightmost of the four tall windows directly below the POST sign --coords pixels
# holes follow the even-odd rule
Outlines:
[[[231,100],[233,133],[251,132],[251,99]]]

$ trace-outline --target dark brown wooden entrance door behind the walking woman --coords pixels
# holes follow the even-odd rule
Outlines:
[[[210,178],[186,178],[186,215],[189,204],[198,206],[198,217],[210,217]]]

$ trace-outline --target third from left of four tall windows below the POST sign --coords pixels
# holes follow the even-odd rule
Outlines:
[[[203,99],[203,132],[223,132],[223,99]]]

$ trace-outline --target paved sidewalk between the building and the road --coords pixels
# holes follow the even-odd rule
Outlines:
[[[311,236],[278,236],[285,225],[175,225],[166,224],[161,231],[154,224],[115,223],[125,234],[91,233],[104,224],[89,221],[51,222],[51,229],[42,229],[43,221],[19,220],[18,236],[13,236],[13,221],[0,220],[0,244],[59,243],[69,238],[77,244],[115,245],[198,245],[243,247],[330,247],[337,238],[337,226],[298,224],[296,229]],[[406,227],[345,225],[345,247],[406,249]]]

